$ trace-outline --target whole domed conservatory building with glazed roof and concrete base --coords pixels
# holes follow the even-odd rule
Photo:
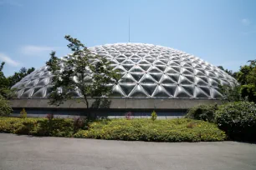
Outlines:
[[[90,47],[90,52],[105,57],[121,74],[111,84],[109,107],[90,108],[95,116],[148,117],[155,110],[162,118],[178,117],[199,104],[220,103],[219,84],[233,87],[236,80],[212,64],[171,47],[144,43],[115,43]],[[49,105],[53,73],[41,67],[16,83],[17,98],[12,100],[13,115],[24,107],[28,116],[48,113],[66,117],[86,114],[86,105],[74,98],[59,106]],[[89,99],[90,105],[94,102]]]

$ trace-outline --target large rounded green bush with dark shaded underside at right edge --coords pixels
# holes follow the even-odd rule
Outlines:
[[[234,140],[256,141],[256,106],[253,102],[228,102],[218,108],[216,122]]]

